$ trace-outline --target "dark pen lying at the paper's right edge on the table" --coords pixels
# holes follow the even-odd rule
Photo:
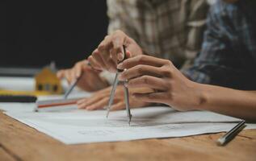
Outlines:
[[[229,132],[227,132],[225,135],[223,135],[217,140],[217,145],[224,146],[226,143],[231,141],[246,126],[245,123],[245,120],[239,122],[236,126],[229,130]]]

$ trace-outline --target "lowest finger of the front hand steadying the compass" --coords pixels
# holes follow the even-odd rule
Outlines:
[[[150,102],[150,103],[166,103],[168,98],[166,93],[133,93],[132,97],[139,99],[141,101]]]

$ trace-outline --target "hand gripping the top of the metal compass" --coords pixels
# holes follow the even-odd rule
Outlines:
[[[103,39],[88,60],[93,68],[115,72],[117,61],[124,59],[123,45],[128,51],[127,57],[143,54],[141,47],[133,39],[125,35],[123,31],[115,31]]]

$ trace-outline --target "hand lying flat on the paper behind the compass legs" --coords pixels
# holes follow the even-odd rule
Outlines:
[[[112,87],[108,87],[107,89],[102,89],[99,92],[94,93],[92,97],[84,98],[78,101],[78,108],[79,109],[103,109],[105,106],[108,105],[110,93]],[[141,100],[137,100],[134,97],[131,97],[132,93],[149,93],[150,89],[145,88],[136,88],[129,90],[129,104],[131,108],[136,107],[144,107],[149,105],[148,102],[144,102]],[[116,109],[124,109],[125,102],[124,102],[124,87],[122,85],[118,85],[115,89],[115,97],[113,104],[111,105],[111,110]]]

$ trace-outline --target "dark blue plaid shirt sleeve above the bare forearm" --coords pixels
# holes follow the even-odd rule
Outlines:
[[[193,66],[182,71],[192,81],[234,89],[251,85],[250,49],[241,39],[250,35],[250,25],[238,9],[221,1],[210,9],[202,51]]]

